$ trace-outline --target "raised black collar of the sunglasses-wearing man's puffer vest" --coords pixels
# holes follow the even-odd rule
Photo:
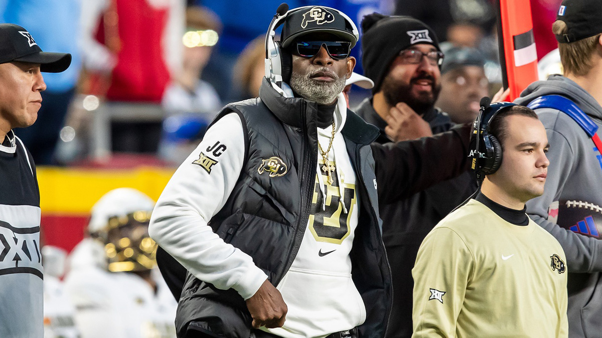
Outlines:
[[[317,125],[317,102],[303,99],[303,97],[284,97],[272,88],[266,78],[263,78],[261,87],[259,87],[259,98],[272,111],[272,114],[289,126],[300,128],[303,124],[308,127]],[[303,102],[307,105],[306,121],[302,121]],[[367,145],[376,140],[379,130],[366,123],[355,112],[347,109],[347,120],[341,134],[355,143]]]

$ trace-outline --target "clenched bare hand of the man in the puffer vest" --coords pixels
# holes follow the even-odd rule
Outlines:
[[[288,307],[284,303],[280,291],[270,281],[265,280],[255,295],[246,302],[251,318],[253,318],[253,328],[262,326],[276,328],[284,325]]]

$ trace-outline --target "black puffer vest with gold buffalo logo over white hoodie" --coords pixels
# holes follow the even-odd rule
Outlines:
[[[245,162],[234,190],[209,226],[253,258],[274,285],[290,268],[308,223],[317,165],[317,104],[285,98],[264,79],[259,97],[232,103],[246,134]],[[377,207],[374,126],[347,111],[341,131],[355,168],[359,223],[350,253],[352,278],[367,318],[361,337],[383,337],[391,306],[391,277]],[[188,274],[176,315],[178,336],[196,330],[211,336],[252,337],[250,314],[235,290],[220,290]]]

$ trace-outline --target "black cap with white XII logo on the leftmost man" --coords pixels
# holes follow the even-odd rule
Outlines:
[[[29,32],[13,23],[0,23],[0,63],[39,63],[46,73],[60,73],[71,64],[71,54],[42,52]]]

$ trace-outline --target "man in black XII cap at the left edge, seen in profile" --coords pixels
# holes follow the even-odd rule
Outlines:
[[[33,158],[13,128],[36,121],[46,89],[40,72],[70,63],[70,54],[42,52],[25,28],[0,24],[0,337],[43,336],[40,192]]]

